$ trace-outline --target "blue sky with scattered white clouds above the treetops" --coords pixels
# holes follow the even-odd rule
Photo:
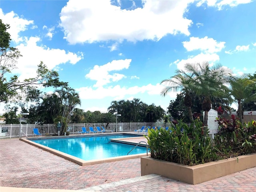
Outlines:
[[[33,77],[43,61],[79,92],[79,108],[102,112],[133,98],[166,110],[177,92],[160,96],[160,82],[187,62],[256,72],[255,10],[255,0],[0,2],[23,55],[13,74]]]

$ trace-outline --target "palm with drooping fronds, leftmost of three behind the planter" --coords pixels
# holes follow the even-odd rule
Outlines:
[[[193,114],[191,110],[192,101],[191,94],[194,92],[194,79],[191,74],[187,74],[183,70],[176,70],[176,75],[169,79],[162,80],[161,84],[166,85],[161,95],[166,96],[170,91],[181,91],[185,95],[184,104],[188,108],[188,116],[190,122],[193,122]]]

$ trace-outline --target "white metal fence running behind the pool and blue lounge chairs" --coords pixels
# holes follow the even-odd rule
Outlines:
[[[70,134],[77,134],[77,132],[82,131],[82,127],[86,127],[86,130],[89,131],[89,127],[93,127],[96,130],[96,127],[104,126],[107,130],[112,130],[114,132],[122,131],[134,131],[140,129],[142,126],[170,126],[169,123],[162,122],[135,122],[135,123],[82,123],[82,124],[68,124],[66,131],[69,131]],[[24,132],[27,136],[33,136],[33,128],[38,128],[38,131],[43,135],[53,135],[58,133],[58,128],[56,124],[0,124],[0,139],[6,138],[18,138],[20,137],[20,130]],[[117,129],[116,129],[117,128]]]

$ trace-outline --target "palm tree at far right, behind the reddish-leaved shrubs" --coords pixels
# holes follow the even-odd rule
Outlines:
[[[230,93],[238,102],[238,117],[242,122],[242,104],[241,102],[256,101],[256,93],[250,91],[251,86],[255,86],[255,79],[248,79],[248,74],[242,74],[230,81]]]

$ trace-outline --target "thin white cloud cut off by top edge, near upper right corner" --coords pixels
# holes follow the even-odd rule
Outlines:
[[[252,2],[252,0],[200,0],[196,6],[202,6],[206,3],[207,6],[217,7],[218,10],[222,10],[225,6],[235,7],[239,4],[247,4]]]

